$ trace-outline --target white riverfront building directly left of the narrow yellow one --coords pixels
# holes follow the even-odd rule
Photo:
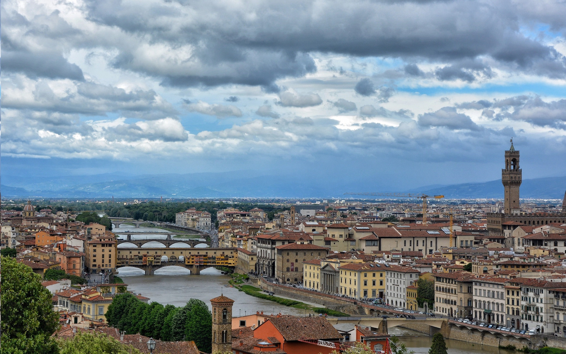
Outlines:
[[[505,283],[507,278],[486,276],[474,279],[474,319],[505,324]]]

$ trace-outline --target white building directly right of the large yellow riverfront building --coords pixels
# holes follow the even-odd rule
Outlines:
[[[407,308],[407,287],[419,279],[420,271],[395,265],[385,265],[385,270],[385,301],[391,306]]]

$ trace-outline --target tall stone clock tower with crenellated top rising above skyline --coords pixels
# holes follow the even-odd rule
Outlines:
[[[519,187],[521,186],[521,168],[519,167],[519,151],[513,147],[505,151],[505,168],[501,170],[501,183],[505,188],[505,214],[519,214]]]

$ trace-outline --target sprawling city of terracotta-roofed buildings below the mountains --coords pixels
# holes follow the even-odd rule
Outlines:
[[[394,201],[159,199],[53,206],[5,199],[1,248],[45,278],[63,323],[59,336],[96,329],[126,343],[106,318],[117,296],[128,293],[119,271],[133,267],[153,275],[177,266],[195,276],[211,267],[231,274],[226,286],[247,289],[246,296],[326,304],[316,316],[258,311],[233,317],[234,300],[213,298],[213,352],[255,354],[285,344],[290,354],[324,353],[355,342],[381,352],[391,347],[388,316],[411,329],[417,321],[447,322],[439,328],[449,329],[443,335],[453,339],[462,329],[495,339],[504,334],[516,344],[531,343],[532,335],[566,338],[566,193],[560,203],[520,203],[519,162],[511,144],[504,152],[503,200],[495,202],[453,203],[424,194],[399,194]],[[207,204],[170,211],[187,203]],[[71,210],[80,205],[82,211]],[[331,323],[344,321],[341,315],[359,317],[358,325],[336,330]],[[301,330],[302,336],[288,330],[299,327],[310,330]],[[328,330],[315,330],[323,327]],[[160,343],[171,348],[163,343],[173,342]],[[199,351],[194,342],[182,343],[185,352]]]

